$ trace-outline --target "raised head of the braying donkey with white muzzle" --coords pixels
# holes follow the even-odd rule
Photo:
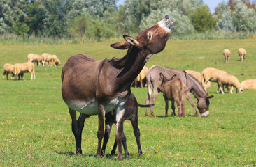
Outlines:
[[[156,54],[164,49],[171,35],[171,29],[173,29],[174,26],[175,22],[171,22],[170,17],[166,15],[160,22],[139,33],[136,39],[124,35],[123,37],[126,42],[118,42],[112,44],[111,47],[115,49],[137,47],[140,50],[148,50],[149,54]]]

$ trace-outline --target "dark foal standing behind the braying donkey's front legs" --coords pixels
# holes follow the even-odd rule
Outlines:
[[[138,145],[138,154],[142,154],[142,150],[141,150],[141,141],[140,141],[140,129],[138,129],[138,106],[140,107],[150,107],[153,106],[154,104],[148,104],[148,105],[142,105],[142,104],[138,104],[136,97],[134,96],[133,93],[131,93],[127,104],[125,106],[125,115],[124,115],[124,120],[130,120],[131,121],[131,125],[134,128],[134,135],[136,138],[136,142]],[[105,115],[106,120],[105,120],[105,125],[106,125],[106,129],[105,129],[105,135],[104,135],[104,141],[103,141],[103,145],[101,148],[101,155],[104,156],[105,154],[105,149],[106,149],[106,144],[108,143],[108,139],[109,136],[111,134],[111,127],[114,124],[116,124],[116,114],[115,114],[115,110],[106,113]],[[127,145],[126,145],[126,137],[124,134],[124,131],[122,131],[122,145],[124,146],[125,149],[125,157],[129,158],[129,152],[127,150]],[[117,147],[117,141],[115,139],[115,143],[113,146],[113,149],[111,151],[111,155],[115,154],[115,150]]]

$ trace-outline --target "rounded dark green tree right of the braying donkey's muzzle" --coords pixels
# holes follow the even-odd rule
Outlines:
[[[216,24],[216,19],[211,15],[207,5],[199,6],[197,11],[192,13],[191,21],[196,31],[211,30]]]

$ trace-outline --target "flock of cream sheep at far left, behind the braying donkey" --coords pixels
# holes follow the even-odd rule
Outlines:
[[[11,79],[23,79],[23,75],[26,72],[29,72],[31,74],[31,80],[34,78],[36,79],[36,74],[35,74],[35,66],[40,65],[42,63],[43,66],[45,66],[45,63],[52,63],[52,65],[60,65],[59,58],[57,58],[56,55],[52,54],[29,54],[27,56],[27,63],[15,63],[15,65],[12,65],[10,63],[6,63],[3,65],[3,79],[4,76],[6,75],[6,79],[8,79],[8,74],[10,74]]]

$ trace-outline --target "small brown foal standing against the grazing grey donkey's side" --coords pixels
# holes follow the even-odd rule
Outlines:
[[[162,80],[161,90],[165,101],[165,117],[168,116],[169,100],[171,100],[171,109],[175,114],[174,101],[178,106],[178,116],[185,117],[185,84],[181,79],[176,78],[176,74],[167,79],[162,73],[160,73],[160,79]]]

